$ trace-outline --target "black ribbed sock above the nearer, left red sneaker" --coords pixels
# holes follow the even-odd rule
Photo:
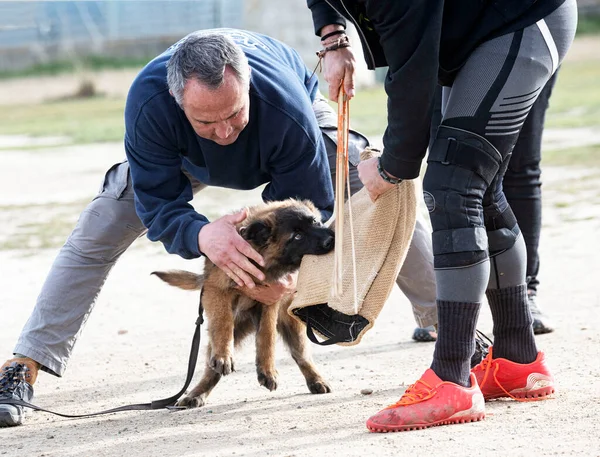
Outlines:
[[[431,368],[443,381],[469,387],[481,303],[437,301],[438,339]]]

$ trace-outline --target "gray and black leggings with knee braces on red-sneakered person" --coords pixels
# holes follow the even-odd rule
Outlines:
[[[444,88],[423,183],[439,300],[477,303],[488,288],[525,284],[525,243],[502,178],[576,24],[575,0],[566,0],[536,24],[481,44]]]

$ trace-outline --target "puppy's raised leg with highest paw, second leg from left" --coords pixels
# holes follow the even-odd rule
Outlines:
[[[212,354],[208,366],[222,375],[235,371],[233,363],[233,309],[231,294],[215,287],[204,287],[202,302],[208,319]]]

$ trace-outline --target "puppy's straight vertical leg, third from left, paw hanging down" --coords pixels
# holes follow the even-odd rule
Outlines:
[[[262,306],[256,331],[256,374],[261,386],[270,391],[277,389],[275,369],[275,344],[277,342],[277,305]]]

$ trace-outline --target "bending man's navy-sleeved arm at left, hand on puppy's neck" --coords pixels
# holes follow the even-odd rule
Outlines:
[[[181,171],[177,148],[166,140],[161,124],[146,118],[142,111],[128,123],[127,132],[125,152],[136,211],[148,228],[148,238],[161,241],[169,253],[184,259],[206,255],[239,286],[254,287],[252,276],[263,280],[264,274],[249,260],[263,265],[263,258],[236,229],[246,212],[209,222],[189,204],[192,186]]]

